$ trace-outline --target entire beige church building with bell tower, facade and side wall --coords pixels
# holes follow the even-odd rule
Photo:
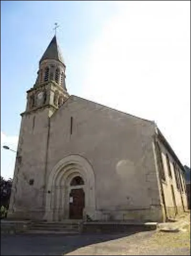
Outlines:
[[[166,221],[184,167],[152,121],[69,95],[53,37],[21,114],[9,219]]]

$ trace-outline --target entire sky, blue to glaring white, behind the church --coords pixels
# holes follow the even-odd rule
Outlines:
[[[54,23],[70,94],[155,120],[190,165],[190,1],[0,1],[1,175]],[[183,125],[182,125],[183,124]]]

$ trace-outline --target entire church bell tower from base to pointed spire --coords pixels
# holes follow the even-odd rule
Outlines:
[[[21,113],[9,219],[42,220],[44,215],[51,116],[69,97],[65,77],[64,59],[54,35]]]

